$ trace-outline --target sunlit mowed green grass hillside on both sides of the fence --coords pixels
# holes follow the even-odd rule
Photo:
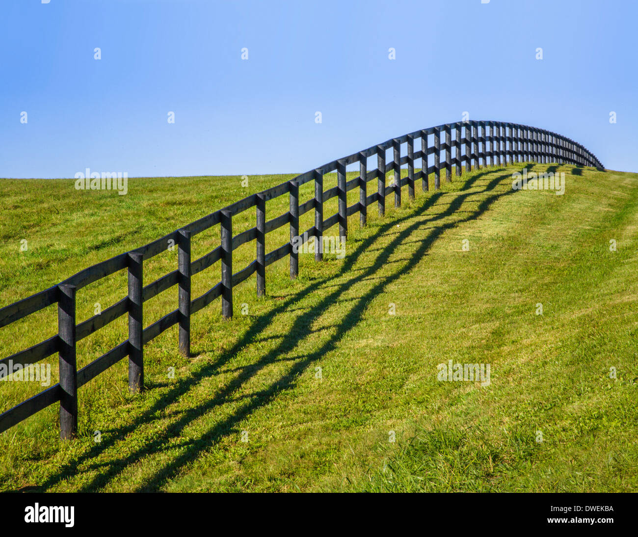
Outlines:
[[[524,167],[565,172],[565,194],[513,190]],[[126,196],[1,180],[0,307],[292,177],[130,179]],[[77,440],[59,440],[57,405],[0,434],[0,490],[636,490],[638,175],[527,163],[453,179],[412,202],[404,188],[400,209],[389,196],[383,218],[375,203],[365,228],[350,217],[343,259],[300,254],[295,281],[274,263],[265,298],[252,276],[232,320],[218,298],[192,318],[193,358],[177,327],[161,334],[142,394],[126,359],[80,388]],[[268,202],[267,219],[287,208]],[[254,225],[249,210],[234,233]],[[287,240],[285,226],[266,249]],[[193,237],[193,259],[218,244],[219,226]],[[254,256],[237,249],[234,271]],[[176,263],[153,258],[144,283]],[[194,276],[193,297],[219,279],[219,263]],[[125,295],[124,271],[78,291],[78,322]],[[176,287],[145,303],[145,326],[175,307]],[[78,366],[126,327],[82,340]],[[1,328],[3,357],[56,330],[54,307]],[[490,364],[489,386],[438,381],[448,360]],[[42,389],[1,382],[0,411]]]

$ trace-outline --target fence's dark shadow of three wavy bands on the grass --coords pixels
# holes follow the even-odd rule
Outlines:
[[[528,164],[528,170],[533,167],[533,164]],[[119,474],[122,473],[128,466],[135,464],[138,460],[143,457],[147,457],[148,455],[152,455],[154,453],[159,453],[164,449],[165,443],[175,437],[179,437],[182,430],[184,430],[189,424],[191,424],[194,420],[197,420],[201,416],[205,415],[211,409],[220,406],[228,401],[232,400],[232,394],[240,388],[246,381],[255,376],[255,374],[266,367],[269,364],[278,360],[279,355],[292,351],[292,349],[299,344],[300,340],[307,335],[306,327],[311,325],[314,321],[322,316],[322,314],[333,304],[339,301],[339,298],[346,293],[346,291],[350,290],[353,286],[360,283],[364,279],[367,279],[371,276],[375,276],[377,274],[378,269],[387,265],[387,261],[390,256],[394,252],[397,246],[404,242],[410,235],[415,232],[415,230],[422,228],[424,224],[433,224],[441,219],[445,219],[454,214],[461,216],[458,213],[459,207],[463,205],[463,203],[467,200],[469,196],[480,196],[487,195],[489,192],[493,191],[498,184],[504,179],[508,179],[511,177],[511,171],[507,173],[503,173],[491,179],[486,187],[480,191],[470,191],[471,188],[475,185],[477,180],[484,177],[487,174],[493,174],[505,171],[504,168],[489,168],[488,170],[481,171],[475,173],[470,178],[468,178],[460,191],[454,195],[454,192],[447,193],[448,195],[454,195],[454,198],[451,200],[447,209],[443,210],[434,216],[428,217],[427,211],[437,205],[441,196],[443,196],[442,192],[436,192],[433,195],[429,196],[420,207],[415,210],[412,210],[410,213],[406,214],[406,216],[401,217],[399,219],[393,219],[392,221],[385,222],[381,224],[378,228],[378,231],[371,237],[362,240],[362,242],[357,246],[357,248],[346,256],[344,263],[339,270],[336,276],[327,276],[321,279],[316,279],[315,281],[308,284],[306,288],[300,290],[295,293],[295,295],[286,299],[281,304],[274,307],[271,311],[258,316],[255,319],[255,322],[251,327],[246,330],[246,333],[242,335],[242,337],[237,341],[232,348],[223,352],[217,360],[212,362],[211,364],[205,365],[197,372],[196,376],[192,376],[190,378],[181,379],[173,385],[170,390],[166,394],[163,394],[162,397],[156,401],[151,408],[143,411],[135,420],[125,427],[120,427],[117,430],[111,431],[111,434],[103,434],[103,441],[100,444],[96,444],[91,447],[86,453],[80,455],[76,460],[67,463],[53,476],[50,476],[48,480],[46,480],[38,490],[47,490],[50,487],[56,485],[57,483],[63,481],[69,476],[75,475],[78,472],[86,471],[86,470],[98,470],[100,474],[95,476],[90,482],[86,483],[80,489],[81,492],[96,492],[108,483],[112,482]],[[338,325],[338,329],[336,333],[330,337],[329,341],[325,342],[320,349],[310,353],[309,355],[305,355],[304,357],[298,360],[285,375],[281,376],[277,381],[272,383],[265,390],[260,390],[259,392],[253,392],[253,394],[245,395],[239,397],[238,399],[252,399],[248,404],[243,406],[241,409],[235,411],[235,413],[231,416],[228,416],[225,420],[217,423],[214,427],[207,430],[198,438],[196,441],[188,441],[188,450],[182,453],[181,455],[175,457],[175,459],[171,460],[161,469],[156,471],[151,476],[148,476],[143,480],[143,483],[139,485],[137,491],[138,492],[149,492],[149,491],[158,491],[161,490],[163,485],[167,483],[172,477],[174,477],[177,473],[179,473],[180,469],[184,467],[189,462],[196,460],[197,457],[204,452],[207,448],[209,448],[212,444],[216,443],[219,438],[223,438],[223,436],[228,435],[231,432],[234,432],[235,427],[239,422],[247,418],[251,413],[256,411],[257,409],[265,406],[269,402],[271,402],[276,396],[295,385],[295,381],[299,376],[300,372],[304,371],[309,365],[322,357],[325,353],[330,352],[332,349],[336,348],[341,337],[348,332],[350,329],[355,327],[357,323],[359,323],[362,318],[362,314],[366,311],[367,306],[370,302],[378,296],[382,291],[386,288],[388,284],[393,283],[399,277],[406,274],[412,270],[420,260],[426,255],[427,251],[433,245],[433,243],[446,231],[450,228],[454,228],[455,226],[466,223],[480,217],[484,212],[486,212],[489,207],[499,200],[503,198],[503,196],[514,193],[515,191],[512,189],[508,189],[504,193],[500,194],[492,194],[487,196],[486,198],[479,201],[479,205],[477,209],[471,210],[467,213],[468,216],[459,217],[458,219],[454,219],[448,223],[442,223],[438,226],[434,226],[428,233],[426,239],[420,242],[420,246],[417,250],[410,256],[410,260],[402,265],[401,267],[397,267],[397,270],[394,271],[393,274],[387,277],[382,277],[378,283],[373,286],[373,288],[367,293],[365,293],[362,297],[356,299],[356,303],[350,307],[350,310],[345,314],[345,316],[341,319],[341,322]],[[424,217],[420,219],[419,217]],[[371,247],[374,246],[375,242],[382,237],[382,235],[386,232],[389,232],[392,228],[396,228],[397,223],[401,223],[408,219],[417,218],[417,221],[412,223],[410,226],[406,228],[401,228],[401,231],[397,233],[396,237],[392,239],[392,241],[387,244],[387,246],[383,247],[380,250],[380,253],[376,256],[376,260],[372,265],[367,267],[365,270],[360,270],[355,273],[352,272],[353,265],[355,265],[356,261],[359,259],[362,253],[369,251]],[[135,429],[140,427],[145,423],[149,423],[153,420],[154,416],[161,409],[165,409],[170,404],[174,403],[179,397],[188,393],[188,391],[193,388],[193,386],[197,385],[202,378],[206,378],[208,376],[212,376],[218,373],[218,370],[223,365],[230,362],[231,358],[247,344],[254,342],[255,338],[258,337],[259,334],[265,330],[265,328],[269,327],[271,323],[276,319],[277,316],[281,314],[290,315],[291,308],[299,302],[301,302],[304,298],[308,297],[311,293],[316,292],[318,288],[325,286],[325,284],[329,284],[330,280],[334,277],[346,276],[348,274],[355,274],[352,276],[347,282],[336,286],[334,291],[332,291],[329,295],[323,298],[320,304],[316,305],[309,311],[305,311],[304,313],[300,313],[299,316],[293,322],[293,326],[290,330],[290,334],[283,339],[279,343],[279,345],[263,354],[262,357],[259,358],[254,364],[249,365],[248,367],[237,368],[236,371],[241,371],[237,375],[236,378],[232,379],[224,388],[219,390],[217,394],[215,394],[211,399],[205,401],[204,403],[195,406],[194,408],[190,408],[187,411],[184,411],[179,415],[179,418],[171,423],[166,430],[163,430],[156,438],[144,442],[135,452],[130,453],[121,459],[112,460],[109,462],[100,462],[95,464],[89,464],[89,466],[85,466],[85,463],[89,462],[89,460],[94,457],[98,457],[101,453],[106,452],[109,448],[114,448],[116,443],[125,438],[128,434],[131,434]],[[341,301],[344,302],[345,301]],[[352,302],[349,300],[348,302]],[[299,309],[299,311],[303,311]],[[205,351],[212,349],[205,349]],[[286,358],[288,361],[293,361],[293,359]],[[106,437],[106,438],[105,438]],[[186,444],[184,444],[186,445]],[[175,447],[175,445],[172,445]]]

